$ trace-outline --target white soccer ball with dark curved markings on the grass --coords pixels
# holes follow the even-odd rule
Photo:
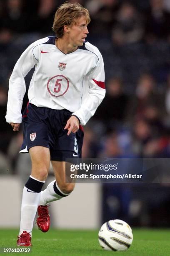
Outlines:
[[[130,226],[123,220],[109,220],[99,231],[99,243],[107,251],[126,251],[133,241]]]

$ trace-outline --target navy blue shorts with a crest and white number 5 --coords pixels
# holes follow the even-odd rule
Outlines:
[[[51,108],[27,105],[23,113],[24,139],[20,153],[28,153],[34,146],[50,148],[53,161],[65,161],[66,158],[81,158],[83,128],[80,125],[76,133],[67,136],[64,127],[71,112]]]

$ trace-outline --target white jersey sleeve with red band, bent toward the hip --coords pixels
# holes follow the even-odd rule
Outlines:
[[[94,115],[98,106],[105,97],[105,73],[104,64],[101,54],[96,67],[92,69],[88,76],[89,92],[86,99],[83,101],[79,110],[75,111],[72,115],[77,116],[81,125],[85,125],[87,121]]]

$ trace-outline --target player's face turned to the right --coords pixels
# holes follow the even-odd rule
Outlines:
[[[84,16],[77,19],[76,25],[70,28],[70,41],[73,46],[82,46],[88,34],[87,23]]]

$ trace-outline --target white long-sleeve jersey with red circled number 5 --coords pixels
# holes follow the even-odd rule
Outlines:
[[[55,36],[32,43],[18,59],[9,80],[7,123],[21,123],[26,87],[24,77],[35,66],[29,102],[37,107],[67,109],[81,125],[94,115],[105,97],[104,64],[100,51],[85,42],[69,54],[55,46]]]

